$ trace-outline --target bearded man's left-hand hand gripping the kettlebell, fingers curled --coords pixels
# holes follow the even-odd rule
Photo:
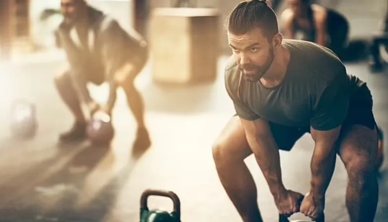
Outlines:
[[[303,201],[303,194],[292,190],[285,190],[275,197],[275,204],[280,215],[290,217],[299,212],[300,203]]]

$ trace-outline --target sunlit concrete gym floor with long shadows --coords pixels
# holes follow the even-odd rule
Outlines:
[[[94,148],[87,143],[61,147],[58,134],[72,118],[60,101],[52,77],[63,62],[31,63],[5,68],[0,75],[0,221],[132,222],[139,220],[143,190],[176,192],[182,203],[183,222],[241,221],[218,180],[211,144],[234,113],[223,86],[220,59],[217,81],[193,87],[167,88],[152,83],[149,67],[136,84],[146,103],[146,122],[152,147],[140,157],[131,155],[135,124],[119,91],[114,110],[117,136],[112,146]],[[374,96],[376,119],[388,130],[387,74],[370,74],[366,64],[347,64],[349,73],[368,82]],[[91,86],[103,101],[105,85]],[[29,141],[9,134],[9,104],[15,98],[35,102],[39,132]],[[291,152],[281,152],[284,182],[289,189],[308,191],[313,141],[306,135]],[[276,222],[277,211],[254,158],[247,164],[258,185],[259,206],[265,222]],[[380,178],[376,222],[388,216],[388,173]],[[346,172],[337,161],[327,192],[328,222],[346,222]],[[151,208],[170,209],[171,202],[151,198]],[[294,217],[297,218],[297,217]],[[6,220],[7,219],[7,220]]]

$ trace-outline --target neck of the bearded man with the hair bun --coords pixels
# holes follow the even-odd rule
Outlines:
[[[290,52],[281,45],[274,52],[275,58],[267,73],[260,79],[261,83],[265,85],[267,82],[270,85],[280,83],[287,73],[288,62],[290,61]]]

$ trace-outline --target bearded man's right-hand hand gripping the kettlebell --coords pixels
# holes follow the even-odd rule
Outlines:
[[[306,217],[316,220],[323,214],[324,197],[314,197],[311,193],[307,193],[300,206],[300,212]]]

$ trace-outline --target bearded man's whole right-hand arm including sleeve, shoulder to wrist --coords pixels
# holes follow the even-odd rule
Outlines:
[[[338,62],[339,64],[339,62]],[[311,119],[315,149],[311,160],[311,193],[324,197],[334,170],[335,145],[348,112],[347,75],[343,65],[334,68],[331,80],[321,83]],[[330,77],[331,78],[331,77]]]

